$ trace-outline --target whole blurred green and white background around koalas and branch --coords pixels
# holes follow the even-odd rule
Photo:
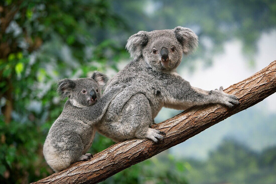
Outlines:
[[[274,0],[1,0],[0,183],[51,175],[42,147],[65,101],[56,80],[115,75],[140,30],[189,27],[197,52],[178,73],[192,86],[225,88],[276,59]],[[276,183],[276,95],[102,183]],[[180,113],[162,109],[155,122]],[[89,153],[114,144],[96,135]]]

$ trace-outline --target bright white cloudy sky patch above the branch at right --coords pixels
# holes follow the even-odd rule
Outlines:
[[[192,86],[205,90],[213,90],[223,86],[237,83],[269,65],[276,60],[276,30],[264,33],[258,42],[258,53],[254,57],[256,66],[250,68],[245,62],[242,54],[242,43],[233,40],[225,43],[223,54],[214,57],[213,66],[203,68],[202,62],[198,62],[196,71],[189,75],[187,70],[182,70],[179,74],[191,83]],[[276,94],[264,100],[268,105],[268,110],[276,112]]]

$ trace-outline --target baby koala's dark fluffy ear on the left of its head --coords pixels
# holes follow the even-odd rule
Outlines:
[[[59,93],[61,98],[64,99],[70,95],[71,91],[75,88],[76,83],[71,79],[64,78],[57,81],[57,85],[57,93]]]

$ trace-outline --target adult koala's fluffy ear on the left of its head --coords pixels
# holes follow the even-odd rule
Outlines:
[[[148,43],[149,35],[147,31],[139,31],[129,37],[126,49],[133,59],[137,59],[142,54],[142,48]]]

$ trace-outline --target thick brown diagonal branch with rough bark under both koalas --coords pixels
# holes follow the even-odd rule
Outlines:
[[[235,94],[240,104],[233,108],[218,104],[191,107],[169,120],[152,126],[166,133],[166,138],[161,143],[156,144],[147,139],[119,142],[95,154],[90,161],[77,162],[66,170],[34,183],[99,183],[131,165],[182,143],[273,94],[276,91],[276,61],[224,91]]]

